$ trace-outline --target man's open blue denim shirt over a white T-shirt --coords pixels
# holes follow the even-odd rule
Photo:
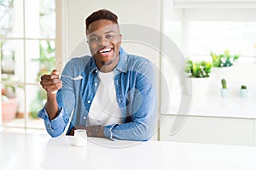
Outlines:
[[[123,123],[104,126],[108,139],[148,140],[153,135],[156,122],[156,92],[154,68],[148,59],[126,54],[119,50],[119,63],[114,68],[114,87]],[[91,56],[73,58],[65,65],[62,75],[83,79],[61,77],[62,88],[57,92],[58,115],[49,121],[45,107],[38,112],[44,119],[47,132],[52,137],[61,135],[69,119],[69,134],[73,127],[86,127],[90,105],[100,83],[99,69]],[[71,117],[72,116],[72,117]]]

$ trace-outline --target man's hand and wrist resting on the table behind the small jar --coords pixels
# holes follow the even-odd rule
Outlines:
[[[74,131],[76,129],[85,129],[87,136],[89,137],[105,137],[104,135],[104,127],[101,126],[93,126],[93,127],[73,127],[71,132],[69,133],[70,135],[74,135]]]

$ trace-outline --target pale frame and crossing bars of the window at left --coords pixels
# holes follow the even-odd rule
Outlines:
[[[55,0],[55,38],[41,38],[41,37],[26,37],[26,0],[22,0],[23,3],[23,16],[22,16],[22,25],[23,25],[23,32],[22,32],[22,36],[21,37],[0,37],[2,40],[19,40],[23,42],[23,56],[24,56],[24,77],[22,78],[21,82],[12,82],[13,85],[17,85],[17,86],[22,86],[24,88],[22,88],[22,91],[24,94],[24,96],[22,97],[22,104],[24,105],[24,109],[22,109],[22,111],[24,111],[24,117],[23,117],[23,123],[21,123],[22,125],[16,125],[15,123],[3,123],[2,122],[2,100],[0,101],[0,110],[1,110],[1,114],[0,114],[0,127],[5,128],[5,127],[18,127],[23,129],[32,129],[32,130],[38,130],[38,129],[42,129],[40,127],[28,127],[28,112],[29,112],[29,108],[27,108],[26,105],[28,100],[27,100],[27,88],[28,86],[34,86],[34,87],[40,87],[39,83],[37,82],[26,82],[26,41],[27,40],[37,40],[37,41],[54,41],[55,42],[55,68],[59,71],[61,71],[63,63],[65,62],[65,60],[63,60],[63,55],[66,53],[65,50],[62,50],[61,47],[65,46],[65,42],[62,42],[62,38],[64,35],[63,33],[65,33],[64,31],[66,30],[65,26],[66,25],[66,20],[62,20],[62,18],[64,18],[63,16],[65,16],[65,8],[66,8],[66,0],[65,1],[61,1],[61,0]],[[64,47],[65,48],[65,47]],[[1,76],[2,77],[2,72],[0,70]],[[2,82],[2,78],[0,80],[0,87],[2,88],[2,86],[7,83],[7,82]],[[2,95],[2,94],[1,94]],[[43,122],[43,120],[41,120]]]

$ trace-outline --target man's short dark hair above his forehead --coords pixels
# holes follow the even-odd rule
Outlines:
[[[94,13],[90,14],[85,20],[86,30],[90,26],[90,24],[96,20],[111,20],[115,24],[118,23],[118,16],[113,14],[113,12],[109,11],[108,9],[99,9]]]

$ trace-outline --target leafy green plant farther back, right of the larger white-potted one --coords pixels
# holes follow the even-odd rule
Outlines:
[[[237,54],[231,55],[228,49],[224,50],[224,54],[213,54],[211,52],[211,56],[214,67],[230,67],[239,58]]]

